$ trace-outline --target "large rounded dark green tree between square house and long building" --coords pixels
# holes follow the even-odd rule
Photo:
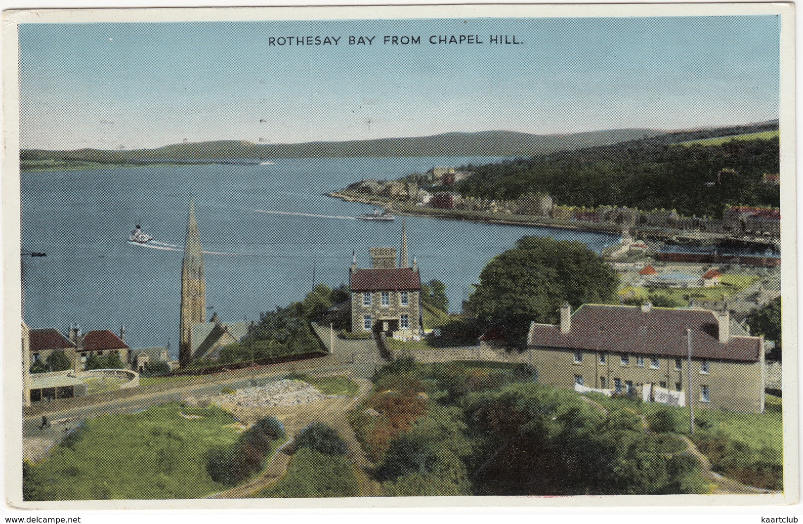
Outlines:
[[[613,302],[617,283],[613,269],[585,244],[525,236],[485,266],[468,309],[520,346],[531,321],[554,323],[565,301],[574,308]]]

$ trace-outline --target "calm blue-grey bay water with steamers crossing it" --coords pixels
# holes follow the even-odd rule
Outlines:
[[[393,179],[433,166],[495,158],[300,158],[275,165],[139,166],[22,173],[24,319],[64,334],[119,331],[132,347],[177,352],[181,247],[194,199],[206,262],[206,304],[223,321],[298,301],[316,284],[348,282],[352,251],[395,246],[402,223],[353,219],[374,207],[325,196],[363,178]],[[267,211],[267,212],[265,212]],[[317,215],[317,216],[316,216]],[[137,220],[159,244],[128,244]],[[459,310],[493,256],[524,235],[580,240],[599,252],[610,235],[406,217],[410,260],[442,280]]]

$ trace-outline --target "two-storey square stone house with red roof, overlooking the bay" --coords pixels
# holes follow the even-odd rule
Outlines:
[[[380,250],[373,249],[372,253]],[[402,265],[407,253],[402,237]],[[412,268],[377,267],[387,260],[374,258],[373,268],[351,268],[352,332],[374,331],[410,337],[421,332],[421,276]],[[395,264],[394,264],[395,265]]]

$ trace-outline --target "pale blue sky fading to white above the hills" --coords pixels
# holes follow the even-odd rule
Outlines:
[[[23,24],[22,148],[125,149],[778,117],[776,16]],[[336,46],[269,46],[282,36]],[[371,46],[349,35],[376,36]],[[385,45],[384,35],[421,36]],[[478,35],[482,44],[429,43]],[[516,35],[494,45],[489,35]]]

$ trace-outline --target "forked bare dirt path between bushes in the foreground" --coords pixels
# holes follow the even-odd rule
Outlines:
[[[365,457],[365,451],[357,441],[354,430],[346,419],[348,411],[365,397],[373,388],[373,383],[368,379],[354,379],[360,384],[360,391],[354,397],[340,397],[337,399],[322,400],[316,403],[302,404],[292,407],[266,407],[255,410],[254,416],[275,416],[284,424],[287,433],[287,444],[290,445],[292,439],[308,424],[319,421],[328,424],[340,433],[340,437],[348,445],[347,456],[353,465],[356,466],[357,476],[365,493],[360,493],[363,497],[381,496],[381,485],[373,480],[371,470],[373,466]],[[256,411],[259,411],[257,413]],[[279,448],[271,462],[267,465],[262,477],[255,479],[245,485],[227,489],[221,493],[215,493],[206,498],[247,498],[255,493],[267,488],[275,481],[287,473],[287,465],[290,464],[291,456]]]

